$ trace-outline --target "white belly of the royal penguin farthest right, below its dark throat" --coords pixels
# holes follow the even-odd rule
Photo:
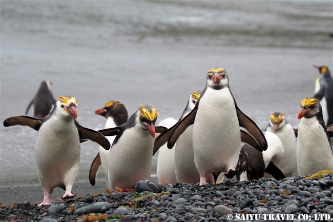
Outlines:
[[[301,118],[297,139],[297,171],[314,174],[333,168],[333,154],[323,127],[316,117]]]

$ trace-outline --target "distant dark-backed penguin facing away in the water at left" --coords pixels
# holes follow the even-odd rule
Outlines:
[[[50,113],[52,106],[54,106],[56,100],[53,98],[52,92],[50,90],[52,82],[45,80],[40,83],[40,87],[35,95],[32,98],[26,109],[26,115],[33,104],[34,106],[34,117],[43,118]]]

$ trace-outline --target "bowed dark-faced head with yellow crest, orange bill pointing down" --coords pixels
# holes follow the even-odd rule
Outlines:
[[[149,133],[155,138],[155,122],[157,119],[158,112],[156,111],[155,107],[152,105],[142,105],[138,109],[139,113],[138,116],[138,122],[140,126],[144,130],[148,130]]]

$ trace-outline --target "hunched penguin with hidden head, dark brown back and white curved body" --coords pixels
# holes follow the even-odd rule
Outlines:
[[[238,181],[259,179],[264,177],[265,173],[268,173],[266,176],[272,175],[276,179],[285,178],[279,169],[284,152],[282,142],[274,133],[263,131],[263,134],[268,143],[267,150],[260,152],[247,144],[242,147],[236,167],[239,169],[236,174]]]

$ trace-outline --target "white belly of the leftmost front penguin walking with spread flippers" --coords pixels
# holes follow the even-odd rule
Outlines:
[[[80,162],[80,142],[74,123],[51,118],[39,129],[36,146],[37,176],[43,189],[72,187]]]

